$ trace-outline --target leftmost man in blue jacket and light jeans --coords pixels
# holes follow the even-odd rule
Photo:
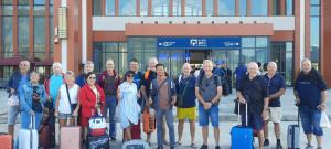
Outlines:
[[[7,84],[7,91],[10,95],[9,109],[8,109],[8,134],[14,134],[14,125],[17,121],[17,117],[20,113],[19,105],[19,88],[30,83],[30,63],[28,61],[20,62],[20,71],[14,72]]]

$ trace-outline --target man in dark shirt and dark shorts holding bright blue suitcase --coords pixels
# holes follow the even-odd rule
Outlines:
[[[264,148],[264,117],[268,109],[268,83],[258,75],[257,63],[250,62],[247,65],[248,75],[239,81],[237,86],[238,102],[248,104],[248,126],[257,130],[259,148]],[[245,115],[242,115],[243,124],[246,124]]]

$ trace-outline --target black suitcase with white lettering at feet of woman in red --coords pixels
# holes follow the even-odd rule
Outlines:
[[[109,136],[107,134],[98,137],[87,135],[86,149],[109,149]]]

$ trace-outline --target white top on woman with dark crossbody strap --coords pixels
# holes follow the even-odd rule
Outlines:
[[[72,104],[77,104],[78,91],[79,91],[79,86],[77,84],[75,84],[72,88],[68,88],[68,93],[70,93]],[[70,102],[68,102],[65,84],[61,85],[60,94],[61,94],[61,97],[60,97],[60,100],[58,100],[60,102],[58,103],[58,111],[63,113],[63,114],[71,114],[71,105],[70,105]]]

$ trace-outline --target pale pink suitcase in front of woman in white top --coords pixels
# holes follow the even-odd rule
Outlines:
[[[60,148],[61,149],[81,149],[81,135],[82,129],[77,126],[77,117],[75,117],[75,125],[70,126],[70,118],[67,119],[67,126],[61,128],[60,132]]]

